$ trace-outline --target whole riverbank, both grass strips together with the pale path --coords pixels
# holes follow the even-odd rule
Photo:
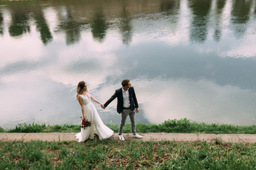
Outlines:
[[[118,129],[118,125],[108,126],[114,131]],[[96,136],[94,140],[81,143],[75,139],[75,133],[80,131],[79,125],[47,126],[32,123],[19,124],[15,129],[9,130],[11,132],[2,129],[0,169],[70,169],[70,167],[72,169],[255,169],[256,167],[256,135],[245,134],[254,132],[252,129],[255,126],[208,125],[187,119],[166,120],[160,125],[137,124],[137,132],[143,136],[142,139],[132,137],[129,133],[129,123],[124,127],[124,142],[119,141],[115,132],[108,140],[99,140]],[[168,132],[152,132],[161,130]],[[182,130],[182,132],[171,132],[171,130]],[[201,130],[204,133],[193,133],[193,130]],[[141,131],[145,132],[141,133]],[[221,134],[227,131],[237,134]]]

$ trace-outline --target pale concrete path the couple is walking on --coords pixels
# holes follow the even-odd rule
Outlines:
[[[11,142],[14,140],[23,140],[28,142],[31,140],[43,141],[76,141],[75,132],[52,132],[52,133],[0,133],[0,142]],[[222,142],[243,142],[256,143],[256,134],[195,134],[195,133],[144,133],[140,134],[143,139],[135,139],[132,134],[123,134],[125,140],[154,140],[159,142],[161,140],[169,140],[176,142],[214,142],[220,140]],[[109,140],[119,140],[116,133]]]

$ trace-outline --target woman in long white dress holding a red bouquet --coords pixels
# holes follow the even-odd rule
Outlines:
[[[80,81],[77,87],[77,99],[82,109],[82,120],[90,121],[91,125],[86,128],[81,128],[81,132],[77,133],[76,139],[78,142],[84,142],[85,140],[93,139],[94,134],[99,135],[100,140],[107,139],[113,135],[113,130],[108,128],[101,120],[100,115],[92,103],[95,101],[102,106],[100,101],[97,101],[87,91],[85,81]]]

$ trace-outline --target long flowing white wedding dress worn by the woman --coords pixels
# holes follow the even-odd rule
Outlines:
[[[89,120],[91,125],[85,129],[81,128],[81,132],[75,135],[78,142],[93,139],[94,134],[97,134],[100,140],[107,139],[113,135],[113,130],[108,128],[101,120],[100,115],[97,113],[95,105],[92,103],[90,94],[88,96],[81,95],[82,103],[85,107],[85,120]]]

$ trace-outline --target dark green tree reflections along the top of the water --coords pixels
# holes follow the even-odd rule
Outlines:
[[[226,0],[184,0],[191,13],[189,26],[189,40],[191,42],[203,43],[206,41],[208,32],[213,26],[213,38],[216,42],[222,36],[221,26],[223,22],[223,11]],[[230,18],[235,36],[241,38],[247,30],[247,23],[254,14],[255,4],[253,0],[231,1]],[[151,6],[154,4],[154,8]],[[31,24],[36,24],[36,29],[40,33],[41,41],[47,45],[53,40],[54,33],[50,32],[49,23],[43,11],[46,8],[53,8],[58,13],[58,26],[55,33],[65,33],[65,42],[72,45],[80,42],[81,32],[90,28],[92,38],[98,42],[103,42],[107,35],[107,30],[118,28],[122,36],[122,43],[129,45],[134,34],[133,21],[139,15],[158,13],[160,18],[169,17],[166,22],[170,22],[169,29],[176,32],[178,18],[180,18],[181,1],[179,0],[147,0],[147,1],[54,1],[51,3],[28,3],[19,2],[11,4],[6,2],[6,9],[11,13],[11,23],[9,25],[9,35],[21,37],[25,33],[30,33]],[[139,7],[137,7],[139,6]],[[160,14],[159,14],[160,13]],[[214,21],[210,21],[213,15]],[[33,16],[33,17],[31,17]],[[187,16],[188,17],[188,16]],[[226,16],[225,16],[226,17]],[[154,20],[154,18],[152,18]],[[213,23],[212,23],[213,22]],[[0,34],[4,34],[4,16],[0,13]]]

